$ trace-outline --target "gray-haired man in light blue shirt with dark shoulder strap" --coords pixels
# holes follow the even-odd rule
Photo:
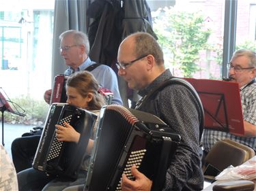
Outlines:
[[[59,35],[60,54],[65,60],[68,69],[64,71],[65,75],[70,75],[76,71],[86,70],[96,63],[89,58],[89,40],[87,35],[81,31],[70,30]],[[96,78],[100,86],[107,88],[113,92],[112,102],[122,105],[122,99],[119,94],[117,75],[107,65],[99,65],[90,71]],[[51,90],[46,90],[44,100],[49,103],[51,98]]]

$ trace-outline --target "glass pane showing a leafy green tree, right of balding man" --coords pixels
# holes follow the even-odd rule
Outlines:
[[[152,12],[165,65],[178,77],[221,78],[225,1],[175,1]]]

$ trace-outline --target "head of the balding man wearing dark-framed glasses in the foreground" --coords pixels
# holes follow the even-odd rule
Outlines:
[[[126,37],[119,46],[117,60],[118,75],[134,90],[145,88],[165,71],[162,50],[148,33]]]

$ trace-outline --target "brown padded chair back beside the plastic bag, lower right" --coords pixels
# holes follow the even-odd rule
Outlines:
[[[203,164],[205,180],[214,181],[214,177],[230,165],[237,167],[253,156],[255,152],[251,147],[230,139],[217,141],[205,156]]]

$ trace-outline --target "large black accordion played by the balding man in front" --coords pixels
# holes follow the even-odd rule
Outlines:
[[[158,117],[143,111],[121,105],[102,107],[84,190],[122,190],[122,173],[134,179],[132,164],[152,179],[152,190],[160,190],[180,143],[180,135],[169,129]]]

